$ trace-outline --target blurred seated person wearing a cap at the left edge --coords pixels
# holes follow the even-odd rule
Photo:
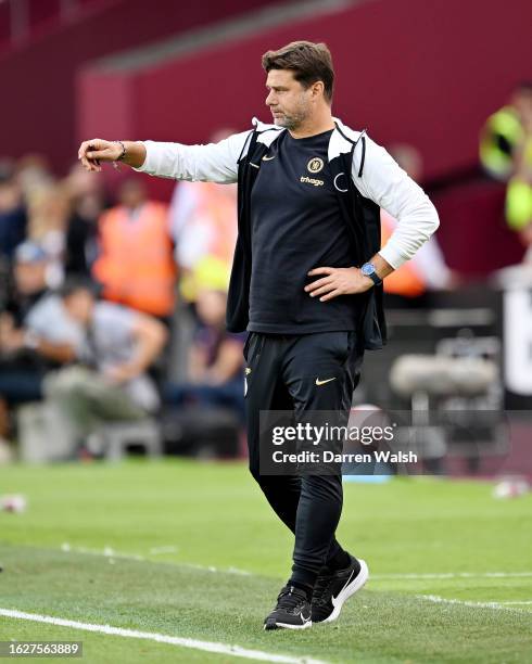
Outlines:
[[[0,312],[0,437],[8,435],[9,408],[40,400],[47,371],[72,361],[83,340],[48,288],[48,268],[42,247],[18,245],[13,293]]]

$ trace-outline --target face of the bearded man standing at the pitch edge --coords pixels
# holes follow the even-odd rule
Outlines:
[[[312,87],[305,88],[295,80],[290,69],[271,69],[266,79],[269,106],[274,123],[286,129],[296,129],[312,112]]]

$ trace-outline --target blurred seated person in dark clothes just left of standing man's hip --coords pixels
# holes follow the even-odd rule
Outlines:
[[[175,406],[225,407],[243,417],[243,334],[226,331],[227,294],[201,290],[197,314],[200,327],[189,355],[189,382],[169,383],[165,400]]]

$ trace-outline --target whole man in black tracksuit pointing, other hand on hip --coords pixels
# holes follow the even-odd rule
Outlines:
[[[250,469],[294,533],[292,574],[266,629],[334,621],[368,567],[335,538],[340,472],[271,475],[261,463],[261,411],[296,421],[333,411],[346,422],[365,349],[385,342],[382,279],[438,228],[422,190],[364,132],[331,115],[333,69],[325,44],[293,42],[263,56],[274,125],[216,144],[86,141],[79,158],[239,184],[239,235],[227,324],[248,330]],[[380,207],[398,226],[380,247]]]

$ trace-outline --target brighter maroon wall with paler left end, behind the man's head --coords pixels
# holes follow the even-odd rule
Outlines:
[[[517,81],[532,78],[530,25],[532,3],[523,0],[378,0],[147,71],[90,68],[79,79],[78,138],[122,129],[131,138],[204,142],[220,126],[248,128],[254,115],[268,122],[261,55],[293,39],[325,40],[338,75],[334,113],[380,143],[414,144],[425,179],[451,181],[433,192],[439,240],[452,267],[481,277],[523,254],[504,220],[504,187],[474,168],[485,118]],[[149,184],[163,199],[174,187]]]

